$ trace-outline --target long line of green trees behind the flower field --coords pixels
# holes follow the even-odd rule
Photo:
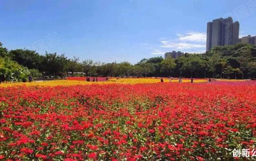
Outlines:
[[[8,50],[0,42],[0,81],[22,81],[32,77],[193,77],[256,78],[256,47],[250,44],[215,47],[204,54],[185,53],[176,59],[153,57],[130,62],[101,63],[68,59],[65,54],[39,55],[28,49]]]

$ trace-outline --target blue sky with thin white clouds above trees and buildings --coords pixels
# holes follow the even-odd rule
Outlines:
[[[101,62],[205,51],[206,24],[232,16],[256,35],[255,0],[1,0],[0,41],[11,49]]]

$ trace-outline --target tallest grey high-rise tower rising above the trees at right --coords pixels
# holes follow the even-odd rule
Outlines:
[[[232,17],[214,19],[207,23],[206,51],[223,45],[239,42],[239,22]]]

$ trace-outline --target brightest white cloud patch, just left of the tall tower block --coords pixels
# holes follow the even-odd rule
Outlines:
[[[189,32],[185,35],[177,34],[178,39],[181,41],[196,41],[196,42],[205,42],[206,43],[206,33],[204,32]]]

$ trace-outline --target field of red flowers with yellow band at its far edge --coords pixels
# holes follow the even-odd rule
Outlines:
[[[173,81],[0,84],[0,159],[232,160],[255,148],[255,81]]]

